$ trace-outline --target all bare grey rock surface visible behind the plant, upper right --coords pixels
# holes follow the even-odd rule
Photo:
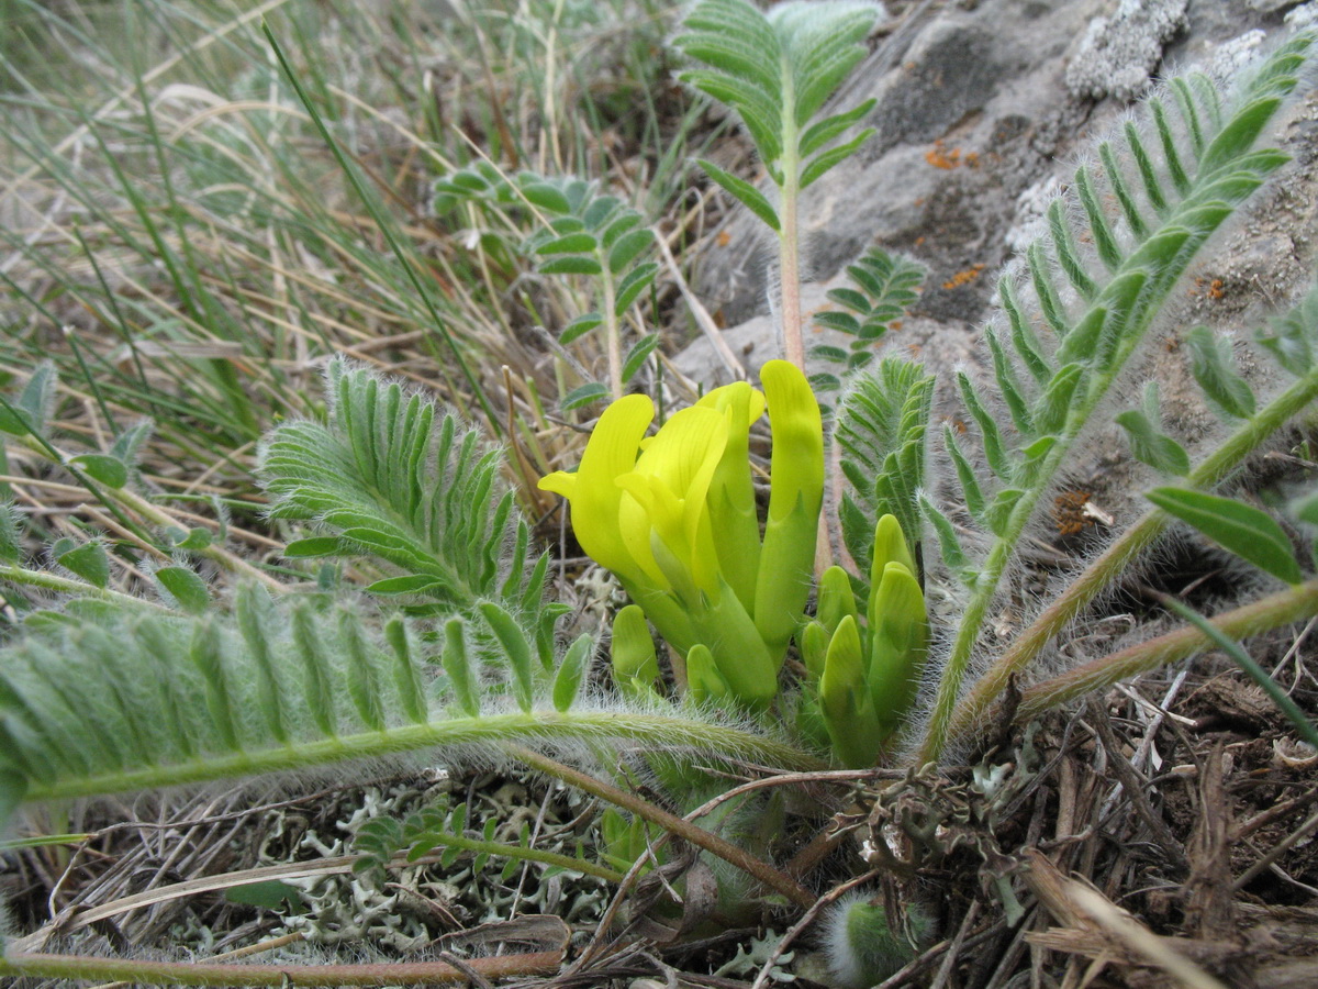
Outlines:
[[[1153,32],[1149,37],[1165,38],[1169,28],[1157,25],[1177,21],[1173,13],[1180,11],[1180,33],[1159,42],[1159,71],[1197,67],[1226,78],[1256,59],[1272,38],[1307,24],[1318,0],[888,7],[891,32],[840,96],[840,105],[875,96],[878,107],[867,123],[879,133],[812,187],[804,203],[808,272],[817,280],[805,286],[807,309],[822,302],[826,287],[842,284],[845,265],[869,247],[911,255],[929,268],[929,278],[912,319],[891,335],[890,345],[919,343],[933,369],[948,369],[977,360],[974,340],[994,315],[999,270],[1040,232],[1043,211],[1068,185],[1077,158],[1126,119],[1128,104],[1112,95],[1115,90],[1094,100],[1068,84],[1077,59],[1091,57],[1086,38],[1093,24],[1112,24],[1126,12],[1127,21]],[[1143,15],[1128,13],[1135,8]],[[1296,154],[1286,178],[1201,258],[1190,290],[1197,290],[1195,277],[1203,285],[1220,280],[1224,287],[1213,299],[1199,291],[1194,318],[1214,316],[1224,328],[1244,331],[1239,320],[1261,318],[1268,301],[1289,302],[1310,278],[1318,124],[1307,113],[1304,103],[1278,131]],[[746,162],[739,165],[745,169]],[[733,211],[721,233],[726,236],[709,239],[696,290],[712,311],[721,310],[734,349],[749,348],[743,360],[754,369],[779,353],[766,294],[774,252],[762,225],[745,211]],[[1248,311],[1232,311],[1246,299]],[[917,326],[927,339],[915,340]],[[963,344],[952,343],[958,335]],[[718,361],[704,340],[679,356],[677,365],[699,380],[720,380]]]

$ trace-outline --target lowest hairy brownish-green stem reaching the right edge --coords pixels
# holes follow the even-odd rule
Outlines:
[[[1310,580],[1235,608],[1217,616],[1210,624],[1231,640],[1243,640],[1260,632],[1305,621],[1314,614],[1318,614],[1318,580]],[[1091,659],[1074,670],[1068,670],[1061,676],[1054,676],[1024,691],[1016,708],[1016,720],[1027,721],[1040,712],[1074,700],[1082,694],[1102,690],[1128,676],[1174,663],[1213,645],[1215,641],[1199,629],[1182,628],[1119,653]]]

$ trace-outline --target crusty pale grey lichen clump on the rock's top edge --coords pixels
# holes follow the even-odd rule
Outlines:
[[[1189,0],[1120,0],[1095,17],[1066,67],[1073,96],[1132,100],[1162,61],[1166,44],[1186,25]]]

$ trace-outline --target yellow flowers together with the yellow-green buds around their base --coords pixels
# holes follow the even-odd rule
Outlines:
[[[793,637],[805,663],[797,724],[840,762],[869,766],[915,700],[928,647],[916,566],[892,516],[875,530],[869,595],[857,607],[841,567],[820,580],[815,541],[824,493],[818,402],[787,361],[716,389],[652,436],[654,405],[610,405],[575,473],[540,487],[568,498],[581,547],[613,571],[635,604],[613,622],[613,674],[633,695],[655,692],[659,663],[646,620],[673,647],[697,703],[764,712]],[[760,533],[750,429],[767,407],[774,452]]]

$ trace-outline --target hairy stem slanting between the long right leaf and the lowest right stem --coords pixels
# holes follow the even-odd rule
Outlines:
[[[1218,484],[1315,398],[1318,398],[1318,372],[1306,375],[1243,423],[1189,473],[1186,485],[1202,491]],[[1159,509],[1147,512],[1090,563],[975,682],[966,699],[957,705],[949,734],[957,737],[971,731],[1007,688],[1011,678],[1024,671],[1054,636],[1161,535],[1170,521],[1170,517]]]

